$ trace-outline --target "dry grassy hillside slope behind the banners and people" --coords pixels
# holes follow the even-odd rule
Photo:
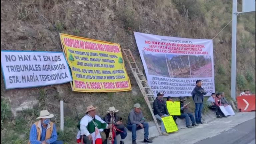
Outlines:
[[[231,21],[231,13],[231,0],[1,0],[1,49],[62,51],[61,32],[120,43],[131,49],[143,70],[133,31],[213,39]],[[215,88],[226,95],[231,82],[231,27],[230,23],[213,40]],[[114,105],[125,121],[138,102],[151,120],[127,65],[126,69],[132,91],[116,93],[73,92],[69,83],[5,90],[1,72],[1,143],[27,143],[30,125],[42,109],[55,114],[59,128],[59,100],[65,107],[65,133],[58,132],[59,138],[69,144],[75,143],[76,124],[89,104],[100,108],[99,115]],[[243,89],[255,93],[255,12],[238,16],[237,94]]]

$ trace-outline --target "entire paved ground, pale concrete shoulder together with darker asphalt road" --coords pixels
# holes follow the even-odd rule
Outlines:
[[[158,136],[152,144],[255,144],[255,116],[255,112],[236,113],[195,128],[179,129],[176,134]],[[141,141],[137,143],[143,144]]]

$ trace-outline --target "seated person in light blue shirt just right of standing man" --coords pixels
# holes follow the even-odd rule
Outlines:
[[[215,98],[216,98],[216,94],[212,93],[212,95],[207,100],[208,108],[215,111],[217,118],[222,118],[222,116],[225,116],[225,115],[221,111],[220,107],[215,105]]]

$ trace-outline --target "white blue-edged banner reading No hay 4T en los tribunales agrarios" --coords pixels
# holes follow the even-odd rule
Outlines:
[[[5,88],[27,88],[72,81],[63,52],[1,50]]]

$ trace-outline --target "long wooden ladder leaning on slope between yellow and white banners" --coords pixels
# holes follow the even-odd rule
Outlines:
[[[160,125],[158,124],[157,122],[157,119],[154,115],[154,112],[153,112],[153,102],[154,100],[156,99],[155,96],[154,96],[154,93],[153,91],[151,90],[150,86],[148,85],[148,82],[147,82],[147,79],[146,77],[144,76],[143,72],[138,68],[138,65],[132,55],[132,52],[130,49],[122,49],[123,51],[123,54],[126,58],[126,61],[128,62],[131,70],[132,70],[132,73],[136,79],[136,82],[138,83],[139,87],[140,87],[140,91],[148,105],[148,108],[151,112],[151,115],[154,119],[154,122],[156,124],[156,128],[159,132],[160,135],[162,135],[162,132],[160,130]]]

